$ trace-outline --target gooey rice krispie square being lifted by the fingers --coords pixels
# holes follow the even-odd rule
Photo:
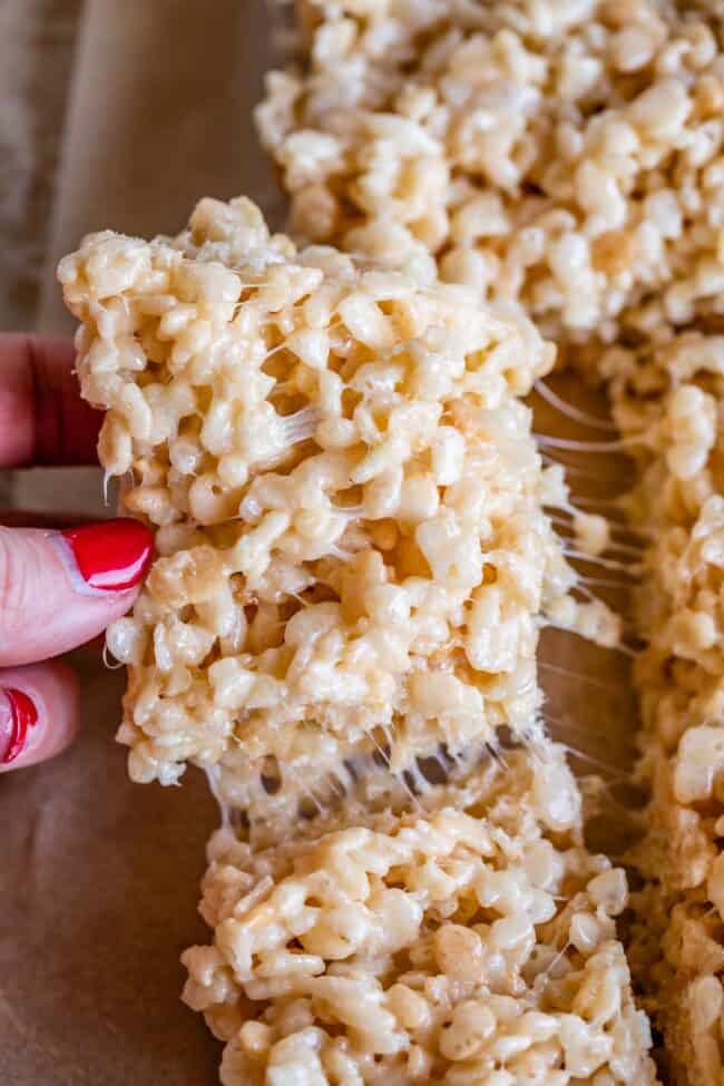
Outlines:
[[[565,486],[517,397],[554,351],[522,317],[297,253],[245,199],[175,241],[91,235],[59,276],[101,462],[156,528],[108,634],[134,780],[190,760],[241,808],[532,736],[541,609],[615,642],[542,511]]]

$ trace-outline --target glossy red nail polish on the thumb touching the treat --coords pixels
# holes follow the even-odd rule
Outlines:
[[[90,588],[126,591],[150,565],[154,537],[138,520],[105,520],[62,532],[80,576]]]

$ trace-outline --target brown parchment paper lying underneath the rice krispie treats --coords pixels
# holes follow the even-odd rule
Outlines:
[[[241,192],[278,223],[250,116],[270,39],[262,0],[87,0],[42,331],[71,327],[52,273],[88,231],[175,232],[199,196]],[[620,464],[599,460],[590,470],[616,486]],[[33,492],[69,508],[74,482],[21,488],[23,500]],[[620,657],[547,633],[544,661],[561,737],[625,766],[635,716]],[[0,777],[0,1084],[212,1086],[219,1046],[179,1002],[178,956],[205,938],[197,887],[215,805],[194,771],[178,789],[127,781],[112,742],[123,673],[90,649],[76,663],[81,738],[51,764]]]

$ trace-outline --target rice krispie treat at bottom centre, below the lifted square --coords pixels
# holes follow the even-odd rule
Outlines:
[[[414,813],[209,844],[184,998],[224,1086],[646,1086],[614,917],[623,871],[580,842],[560,751],[490,762]]]

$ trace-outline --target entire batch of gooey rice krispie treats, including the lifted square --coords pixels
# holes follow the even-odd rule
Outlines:
[[[58,272],[156,537],[118,738],[221,809],[184,1000],[223,1086],[723,1086],[724,7],[290,18],[287,233],[205,198]],[[586,418],[556,364],[591,441],[534,429]],[[633,657],[635,809],[554,741],[547,627]]]

